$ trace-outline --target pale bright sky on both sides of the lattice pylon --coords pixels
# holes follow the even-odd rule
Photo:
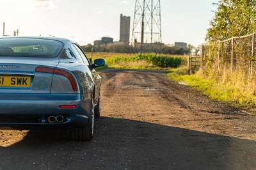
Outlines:
[[[141,0],[139,0],[141,1]],[[156,0],[154,0],[156,1]],[[120,14],[131,17],[136,0],[0,0],[0,36],[49,36],[69,38],[80,45],[103,36],[119,41]],[[218,0],[162,0],[162,41],[166,44],[205,42]]]

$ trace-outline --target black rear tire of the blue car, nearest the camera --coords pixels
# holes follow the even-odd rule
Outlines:
[[[94,107],[90,111],[88,123],[84,128],[70,130],[70,138],[74,141],[91,141],[94,135]]]

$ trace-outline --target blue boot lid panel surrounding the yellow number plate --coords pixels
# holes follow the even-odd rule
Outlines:
[[[31,77],[30,88],[0,88],[0,93],[50,93],[52,74],[37,73],[37,66],[49,66],[54,68],[60,63],[58,58],[20,58],[20,57],[0,57],[0,73],[1,75],[28,75]],[[15,90],[13,90],[15,89]]]

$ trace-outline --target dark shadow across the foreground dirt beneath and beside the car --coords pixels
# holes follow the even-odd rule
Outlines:
[[[97,119],[92,141],[29,131],[0,148],[1,169],[254,169],[256,142],[141,121]],[[15,136],[13,136],[15,139]]]

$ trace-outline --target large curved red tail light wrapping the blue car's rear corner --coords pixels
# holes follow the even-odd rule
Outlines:
[[[60,70],[58,68],[49,68],[49,67],[45,67],[45,66],[38,66],[38,67],[36,67],[35,71],[42,72],[42,73],[54,73],[54,74],[58,74],[58,75],[67,77],[67,79],[70,81],[72,89],[74,91],[77,91],[76,79],[74,78],[74,76],[71,73],[69,73],[65,70]]]

